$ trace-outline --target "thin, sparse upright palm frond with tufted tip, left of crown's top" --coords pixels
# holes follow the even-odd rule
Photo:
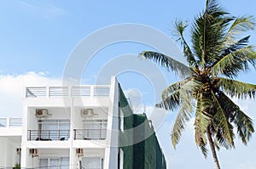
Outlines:
[[[182,48],[183,48],[183,54],[186,57],[189,66],[195,66],[197,65],[194,54],[192,53],[191,49],[189,48],[188,43],[186,42],[185,38],[183,37],[183,31],[187,27],[187,22],[183,21],[177,21],[175,22],[174,25],[174,36],[177,37],[177,42],[180,42]]]

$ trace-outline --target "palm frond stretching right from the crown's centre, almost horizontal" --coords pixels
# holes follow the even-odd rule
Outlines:
[[[222,77],[215,78],[213,83],[231,97],[236,97],[238,99],[254,99],[256,97],[256,85],[254,84],[239,82]]]

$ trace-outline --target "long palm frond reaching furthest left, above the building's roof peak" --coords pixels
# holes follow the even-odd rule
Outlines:
[[[154,62],[162,65],[167,70],[174,71],[178,76],[189,76],[191,75],[191,70],[187,65],[183,65],[176,59],[172,59],[169,56],[166,56],[165,54],[160,54],[156,52],[151,51],[144,51],[140,54],[145,59],[152,59]]]

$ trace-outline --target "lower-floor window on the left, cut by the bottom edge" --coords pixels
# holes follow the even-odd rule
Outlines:
[[[69,168],[69,157],[61,158],[45,158],[39,160],[40,168],[50,169],[68,169]]]

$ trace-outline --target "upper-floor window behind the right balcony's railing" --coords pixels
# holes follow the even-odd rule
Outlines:
[[[107,137],[107,120],[84,120],[83,137],[89,139],[104,139]]]

